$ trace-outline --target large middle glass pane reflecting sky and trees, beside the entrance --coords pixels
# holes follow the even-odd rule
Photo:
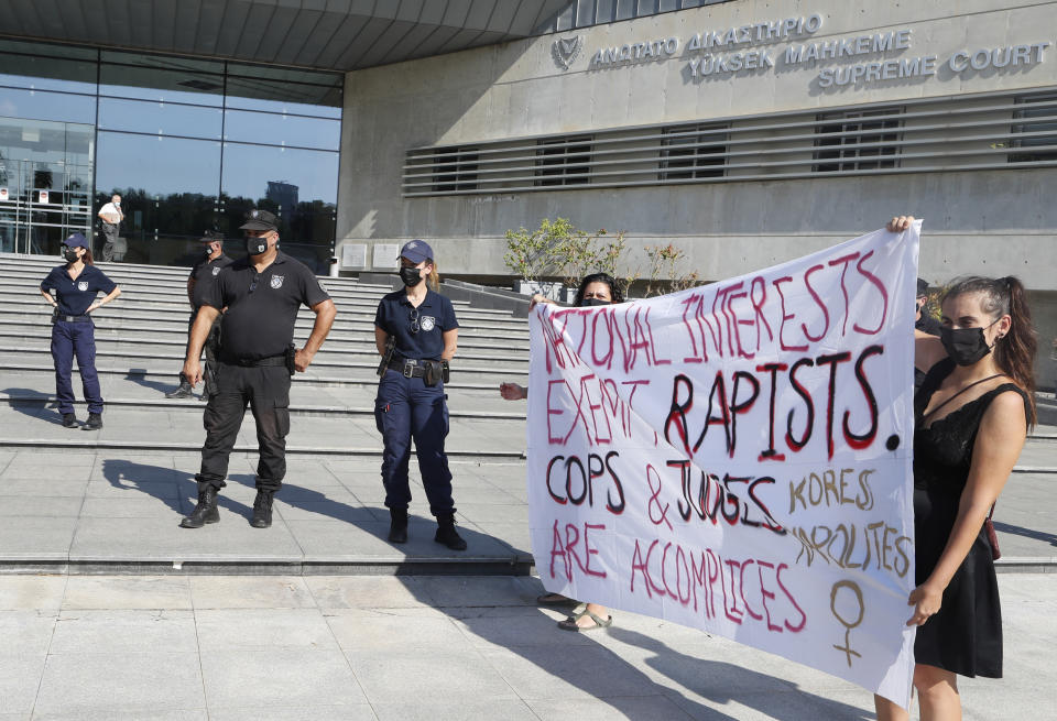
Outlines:
[[[216,223],[220,143],[99,131],[96,207],[121,195],[126,262],[171,263],[155,241],[186,241]],[[177,243],[178,245],[178,243]]]

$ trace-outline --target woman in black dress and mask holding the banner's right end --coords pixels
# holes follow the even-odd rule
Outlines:
[[[913,218],[893,218],[901,232]],[[914,400],[917,625],[914,687],[922,721],[961,719],[957,675],[1002,676],[1002,618],[990,513],[1035,423],[1035,331],[1015,277],[955,281],[939,338],[917,334],[929,371]],[[907,719],[875,697],[882,721]]]

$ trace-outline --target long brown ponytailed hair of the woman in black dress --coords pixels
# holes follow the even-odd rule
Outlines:
[[[1027,307],[1024,284],[1016,277],[970,276],[956,280],[944,294],[944,301],[963,293],[980,293],[984,313],[998,320],[1010,316],[1010,331],[994,343],[994,362],[1027,392],[1028,427],[1037,420],[1035,412],[1035,352],[1038,348],[1032,312]]]

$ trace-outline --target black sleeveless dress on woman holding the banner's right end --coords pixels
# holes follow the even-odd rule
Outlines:
[[[1005,391],[1027,394],[1003,383],[957,411],[923,427],[923,413],[939,384],[955,369],[950,359],[934,365],[914,397],[914,533],[920,586],[939,561],[958,516],[958,503],[969,478],[980,419],[991,401]],[[1025,415],[1027,417],[1027,415]],[[944,591],[942,605],[917,629],[914,656],[918,664],[961,676],[1002,678],[1002,610],[991,559],[991,544],[981,527],[969,555]]]

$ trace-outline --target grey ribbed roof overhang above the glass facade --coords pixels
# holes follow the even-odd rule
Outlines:
[[[569,0],[4,0],[0,35],[329,70],[535,34]]]

